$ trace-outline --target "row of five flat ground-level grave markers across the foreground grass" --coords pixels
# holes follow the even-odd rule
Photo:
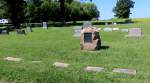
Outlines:
[[[4,58],[4,60],[18,62],[18,61],[21,61],[23,59],[21,59],[21,58],[14,58],[14,57],[6,57],[6,58]],[[32,61],[32,62],[33,63],[40,63],[41,61]],[[70,64],[62,63],[62,62],[54,62],[53,66],[59,67],[59,68],[67,68],[67,67],[70,66]],[[85,68],[85,70],[86,71],[90,71],[90,72],[103,72],[104,68],[103,67],[95,67],[95,66],[87,66]],[[130,75],[136,75],[136,70],[133,70],[133,69],[114,68],[113,72],[126,73],[126,74],[130,74]]]

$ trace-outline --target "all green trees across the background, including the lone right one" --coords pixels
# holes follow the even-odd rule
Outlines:
[[[92,0],[90,0],[92,1]],[[113,9],[118,18],[129,18],[132,0],[117,0]],[[14,26],[27,22],[66,22],[98,18],[100,12],[93,3],[79,0],[0,0],[0,17],[11,19]]]

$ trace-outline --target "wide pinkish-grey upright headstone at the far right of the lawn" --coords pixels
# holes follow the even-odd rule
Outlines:
[[[126,37],[141,37],[142,30],[141,28],[131,28],[129,29],[129,33]]]

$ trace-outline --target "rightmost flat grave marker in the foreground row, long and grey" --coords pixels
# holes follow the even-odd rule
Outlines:
[[[119,68],[114,68],[113,72],[126,73],[126,74],[131,74],[131,75],[135,75],[136,74],[136,70],[133,70],[133,69],[119,69]]]

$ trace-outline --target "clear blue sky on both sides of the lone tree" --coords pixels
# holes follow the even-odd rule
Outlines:
[[[131,9],[131,18],[150,18],[150,0],[133,0],[134,8]],[[114,18],[112,9],[116,5],[117,0],[93,0],[100,11],[100,19]]]

